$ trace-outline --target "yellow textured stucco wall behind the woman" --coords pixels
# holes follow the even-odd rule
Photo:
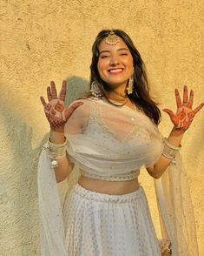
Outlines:
[[[204,1],[0,1],[0,255],[40,255],[36,158],[49,125],[39,101],[50,80],[69,82],[70,102],[87,86],[91,45],[103,28],[126,30],[148,68],[161,109],[175,109],[174,87],[203,101]],[[163,114],[161,131],[171,124]],[[182,142],[200,253],[204,253],[204,115]],[[156,229],[153,181],[141,172]]]

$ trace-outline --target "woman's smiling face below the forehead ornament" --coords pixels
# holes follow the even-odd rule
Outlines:
[[[105,38],[98,46],[98,72],[104,82],[111,89],[121,88],[124,90],[129,77],[133,73],[133,57],[128,46],[120,38],[120,42],[114,45],[105,43]]]

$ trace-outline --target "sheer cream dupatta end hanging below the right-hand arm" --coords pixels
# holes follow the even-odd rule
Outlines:
[[[173,256],[198,256],[188,177],[181,154],[176,156],[160,179],[155,179],[155,192],[161,221],[162,238],[170,239]]]

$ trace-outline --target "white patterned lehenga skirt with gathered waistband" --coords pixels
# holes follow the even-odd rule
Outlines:
[[[124,195],[76,184],[63,205],[69,256],[158,256],[159,242],[143,188]]]

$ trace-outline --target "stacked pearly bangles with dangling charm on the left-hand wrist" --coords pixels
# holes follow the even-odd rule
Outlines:
[[[43,149],[48,152],[49,158],[51,161],[51,167],[57,167],[59,159],[62,159],[66,156],[66,148],[67,148],[67,138],[63,144],[55,144],[48,139],[47,143],[43,145]]]

